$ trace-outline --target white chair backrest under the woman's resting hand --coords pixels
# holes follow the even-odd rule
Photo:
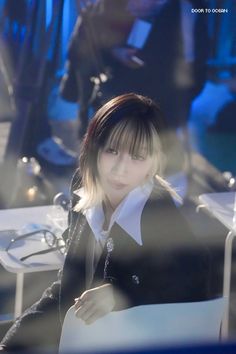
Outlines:
[[[125,350],[218,341],[225,299],[143,305],[111,312],[91,325],[65,317],[59,353]]]

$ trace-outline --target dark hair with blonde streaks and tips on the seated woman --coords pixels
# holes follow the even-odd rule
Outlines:
[[[161,148],[163,113],[150,98],[128,93],[105,103],[91,120],[81,146],[79,171],[84,193],[74,210],[80,211],[104,200],[99,182],[98,159],[105,145],[127,149],[138,155],[145,145],[153,157],[153,176],[162,188],[175,191],[161,177],[164,156]],[[177,194],[176,194],[177,196]]]

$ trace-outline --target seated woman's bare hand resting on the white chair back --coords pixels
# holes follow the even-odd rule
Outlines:
[[[113,287],[111,284],[105,284],[86,290],[75,299],[75,315],[86,324],[91,324],[111,312],[114,306]]]

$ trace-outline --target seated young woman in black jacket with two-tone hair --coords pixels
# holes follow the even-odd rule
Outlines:
[[[131,306],[207,298],[207,254],[160,176],[161,120],[152,100],[132,93],[95,114],[72,181],[60,279],[15,322],[2,348],[55,348],[74,303],[90,324]]]

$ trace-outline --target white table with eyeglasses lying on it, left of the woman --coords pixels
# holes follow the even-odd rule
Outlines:
[[[0,210],[0,230],[21,229],[26,224],[48,224],[48,214],[53,214],[53,206],[39,206],[19,209]],[[66,217],[66,216],[65,216]],[[12,245],[8,252],[6,246],[11,240],[10,235],[0,237],[0,263],[9,272],[16,274],[16,293],[14,317],[22,313],[24,274],[60,269],[64,256],[59,251],[30,257],[24,262],[19,259],[30,253],[48,248],[42,239],[33,236],[18,241]]]

